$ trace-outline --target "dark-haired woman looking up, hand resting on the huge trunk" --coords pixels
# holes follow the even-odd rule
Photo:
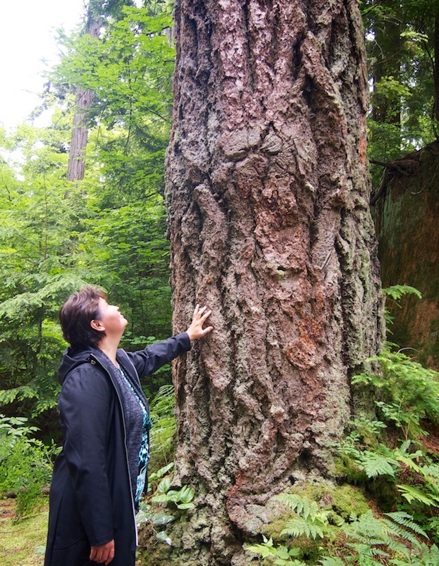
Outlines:
[[[203,328],[210,314],[197,305],[186,332],[125,352],[118,346],[128,321],[105,293],[88,286],[62,306],[70,343],[58,372],[64,443],[51,484],[45,566],[134,566],[150,428],[139,378],[211,332]]]

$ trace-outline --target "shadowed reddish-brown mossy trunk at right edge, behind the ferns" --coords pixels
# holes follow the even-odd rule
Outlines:
[[[439,142],[391,163],[385,194],[374,207],[383,286],[411,285],[423,298],[392,306],[390,340],[439,370]]]

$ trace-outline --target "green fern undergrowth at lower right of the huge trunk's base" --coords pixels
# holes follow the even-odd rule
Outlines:
[[[420,296],[407,286],[385,293],[396,304],[404,293]],[[379,370],[352,383],[375,392],[375,418],[362,415],[349,423],[337,446],[337,471],[338,482],[357,486],[370,508],[342,517],[328,493],[276,496],[289,515],[283,528],[245,546],[261,564],[439,564],[439,449],[428,441],[429,430],[439,425],[439,374],[393,344],[369,361]]]

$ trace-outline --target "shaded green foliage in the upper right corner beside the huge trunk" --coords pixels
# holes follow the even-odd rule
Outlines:
[[[435,10],[429,0],[361,2],[369,80],[368,155],[381,163],[437,136],[434,109]],[[382,168],[372,163],[378,185]]]

